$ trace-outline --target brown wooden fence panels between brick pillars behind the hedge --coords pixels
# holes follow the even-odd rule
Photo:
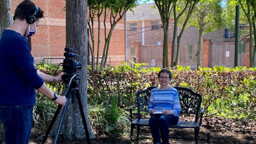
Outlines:
[[[211,44],[211,67],[213,66],[225,66],[234,67],[235,60],[235,43],[212,43]],[[197,57],[196,52],[198,44],[191,44],[191,60],[190,67],[196,68]],[[189,66],[189,44],[180,44],[180,57],[179,65]],[[128,55],[129,55],[128,50]],[[177,52],[177,45],[175,45],[175,55]],[[204,49],[202,50],[202,53]],[[141,46],[141,63],[148,63],[148,66],[152,66],[152,59],[155,60],[155,66],[162,67],[163,62],[163,45],[145,45]],[[131,56],[130,56],[131,57]],[[129,58],[129,56],[128,56]],[[238,65],[241,65],[241,54],[238,57]]]

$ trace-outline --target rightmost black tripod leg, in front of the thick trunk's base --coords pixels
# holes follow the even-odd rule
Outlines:
[[[88,127],[87,127],[85,116],[84,116],[84,109],[83,109],[83,106],[82,106],[82,102],[81,102],[79,92],[76,92],[76,99],[77,99],[77,102],[78,102],[78,106],[79,106],[81,117],[82,117],[83,124],[84,124],[84,132],[85,132],[87,144],[91,144],[91,140],[90,140],[90,136],[89,136],[89,132],[88,132]]]

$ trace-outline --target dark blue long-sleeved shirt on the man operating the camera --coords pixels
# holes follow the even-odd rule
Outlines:
[[[13,30],[4,30],[0,39],[0,105],[34,106],[35,89],[43,83],[27,39]]]

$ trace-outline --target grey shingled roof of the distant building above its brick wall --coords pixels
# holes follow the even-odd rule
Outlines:
[[[126,13],[127,21],[135,20],[161,20],[157,7],[152,8],[155,4],[141,4],[133,9],[134,12]]]

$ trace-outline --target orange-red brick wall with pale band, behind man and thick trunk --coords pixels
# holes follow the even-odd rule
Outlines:
[[[23,0],[11,0],[12,15],[16,7]],[[65,0],[32,0],[38,7],[44,11],[44,18],[41,19],[36,34],[31,37],[31,47],[35,63],[42,61],[43,58],[60,58],[63,57],[66,45],[66,12],[63,8]],[[103,17],[101,18],[101,44],[100,53],[104,46],[104,26]],[[107,19],[109,22],[109,19]],[[97,23],[95,24],[95,39],[97,39]],[[110,25],[107,23],[107,29]],[[97,47],[97,45],[96,45]],[[96,48],[97,49],[97,48]],[[95,51],[95,54],[97,51]],[[102,54],[100,54],[102,57]],[[124,42],[124,19],[117,24],[110,41],[108,57],[111,63],[121,64],[125,61],[125,42]],[[57,60],[61,62],[60,60]]]

